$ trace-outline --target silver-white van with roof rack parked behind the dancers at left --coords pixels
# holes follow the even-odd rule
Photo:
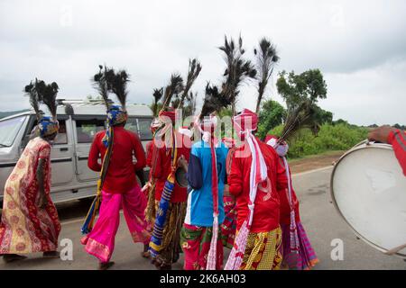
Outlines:
[[[73,113],[66,109],[67,106]],[[152,111],[141,104],[128,104],[126,109],[128,121],[125,128],[138,133],[145,150],[146,143],[152,139]],[[52,200],[66,202],[93,196],[98,173],[88,168],[88,152],[95,133],[105,129],[106,106],[97,100],[59,100],[58,121],[60,130],[51,148]],[[0,201],[3,200],[5,181],[35,125],[34,112],[22,112],[0,120]],[[144,175],[147,173],[144,170]]]

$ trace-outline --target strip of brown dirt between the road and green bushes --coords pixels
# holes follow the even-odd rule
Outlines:
[[[345,151],[331,151],[321,155],[313,155],[300,159],[293,159],[289,161],[291,166],[291,173],[297,174],[309,170],[322,168],[325,166],[332,166],[333,162],[337,161]]]

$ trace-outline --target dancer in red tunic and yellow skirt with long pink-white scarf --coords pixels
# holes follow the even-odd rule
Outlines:
[[[229,192],[236,198],[237,235],[225,269],[279,269],[278,191],[287,185],[285,171],[273,149],[254,136],[256,113],[245,109],[233,123],[244,142],[235,150],[228,176]]]

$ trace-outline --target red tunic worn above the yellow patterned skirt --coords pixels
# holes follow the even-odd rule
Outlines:
[[[257,139],[268,168],[270,184],[263,184],[268,189],[258,187],[254,219],[251,232],[269,232],[279,227],[280,220],[280,190],[287,187],[285,169],[281,166],[279,156],[270,146]],[[237,229],[240,229],[248,215],[248,202],[250,192],[251,151],[246,146],[237,148],[231,164],[231,172],[228,175],[229,192],[235,195],[235,210],[237,211]],[[243,152],[243,151],[246,151]],[[245,153],[245,157],[238,157],[239,153]],[[241,156],[242,154],[240,154]],[[264,192],[265,190],[266,192]]]

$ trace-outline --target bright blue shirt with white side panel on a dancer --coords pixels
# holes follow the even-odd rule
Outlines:
[[[215,148],[218,180],[218,224],[224,221],[223,192],[226,182],[226,157],[228,148],[219,142]],[[213,226],[213,193],[211,181],[211,149],[200,140],[193,144],[188,166],[189,195],[185,223],[194,226]]]

